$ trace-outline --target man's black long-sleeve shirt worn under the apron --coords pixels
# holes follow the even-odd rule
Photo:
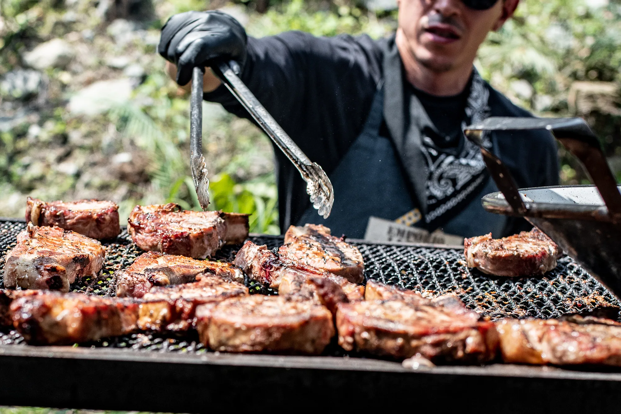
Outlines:
[[[372,40],[367,35],[314,37],[295,31],[262,39],[249,37],[240,78],[302,151],[330,175],[360,134],[384,76],[386,48],[382,42],[386,39]],[[492,116],[530,116],[491,86],[489,90]],[[204,98],[250,119],[224,85]],[[558,184],[556,144],[550,134],[504,134],[509,139],[498,140],[498,151],[515,155],[503,159],[520,188]],[[523,137],[530,144],[520,142]],[[276,147],[274,153],[279,221],[285,231],[297,223],[309,200],[297,170]],[[524,162],[527,165],[521,165]]]

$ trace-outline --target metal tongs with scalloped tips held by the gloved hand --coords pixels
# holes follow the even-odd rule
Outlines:
[[[236,65],[235,62],[231,62]],[[296,166],[297,170],[306,181],[306,192],[311,198],[314,208],[318,209],[320,216],[327,218],[332,211],[334,203],[334,190],[332,183],[325,174],[323,168],[311,160],[302,152],[295,142],[278,125],[278,122],[268,113],[268,111],[256,99],[255,95],[248,89],[242,80],[235,75],[235,71],[229,63],[220,63],[212,68],[214,73],[219,76],[222,83],[237,98],[248,113],[261,126],[263,131],[278,145],[289,160]],[[199,203],[203,209],[209,204],[209,182],[207,181],[207,168],[204,157],[202,157],[202,68],[194,68],[192,79],[192,96],[190,108],[190,156],[192,163],[192,177],[194,186],[199,197]],[[202,197],[202,198],[201,198]]]

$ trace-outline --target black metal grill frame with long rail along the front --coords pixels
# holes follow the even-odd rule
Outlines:
[[[4,221],[24,223],[24,220],[0,218],[0,222]],[[281,240],[280,236],[253,237],[273,239],[274,242]],[[433,244],[375,244],[358,240],[351,242],[363,246],[380,246],[387,251],[463,249],[458,246]],[[3,253],[0,251],[2,257]],[[3,265],[3,260],[1,264]],[[458,293],[468,298],[467,292]],[[472,301],[465,302],[473,308]],[[327,407],[322,398],[311,398],[313,401],[309,401],[311,399],[307,398],[307,391],[311,388],[326,393],[330,398],[336,398],[332,400],[333,405],[330,408],[342,404],[348,409],[368,408],[377,403],[378,398],[381,399],[383,408],[391,405],[398,407],[402,403],[411,403],[415,396],[425,400],[433,399],[435,404],[439,403],[445,408],[450,406],[463,409],[463,398],[469,398],[484,390],[486,405],[497,400],[498,404],[502,404],[501,407],[506,407],[505,411],[517,412],[529,407],[537,407],[538,410],[547,407],[548,411],[575,411],[581,404],[589,410],[594,407],[602,410],[612,407],[616,409],[618,402],[613,396],[621,392],[621,372],[610,372],[612,369],[602,370],[601,367],[579,367],[573,370],[490,364],[483,367],[438,366],[412,371],[404,369],[398,362],[355,355],[343,357],[338,352],[329,355],[272,356],[225,354],[204,350],[200,353],[161,350],[154,352],[110,347],[93,349],[83,346],[0,344],[0,369],[12,373],[11,380],[5,381],[5,386],[0,387],[0,398],[3,404],[11,405],[171,412],[202,412],[206,407],[219,405],[230,407],[234,398],[236,408],[248,407],[256,410],[255,397],[263,397],[260,394],[255,395],[252,390],[249,381],[255,379],[257,382],[265,382],[257,383],[255,387],[267,390],[271,401],[299,405],[301,398],[306,397],[304,401],[309,404],[309,408],[313,405],[317,405],[317,408]],[[171,381],[167,380],[169,389],[165,393],[156,392],[153,382],[144,380],[150,378],[150,375],[177,379],[180,382],[171,385]],[[54,377],[63,380],[53,380]],[[88,382],[84,381],[87,377],[92,384],[85,389],[84,384]],[[239,379],[243,379],[243,387],[235,386]],[[110,384],[118,384],[119,387],[110,391]],[[188,387],[188,384],[193,385]],[[185,391],[182,385],[186,387]],[[455,398],[445,398],[447,387],[451,389],[451,397]],[[192,392],[190,397],[188,389]],[[200,390],[202,391],[199,392]],[[175,395],[175,391],[184,398],[171,398],[170,395]],[[507,391],[516,398],[507,397]],[[338,395],[347,398],[338,402]],[[460,395],[463,398],[459,398]],[[556,398],[551,400],[550,395],[555,395]],[[510,407],[508,402],[512,403]]]

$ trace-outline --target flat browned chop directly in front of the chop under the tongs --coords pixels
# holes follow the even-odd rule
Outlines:
[[[115,273],[117,297],[142,298],[153,286],[194,282],[196,275],[201,273],[243,283],[242,270],[229,263],[146,252],[139,255],[130,267]]]

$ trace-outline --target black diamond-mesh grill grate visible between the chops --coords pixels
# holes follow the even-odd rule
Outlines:
[[[3,274],[4,256],[15,246],[17,233],[25,223],[0,221],[0,275]],[[250,239],[273,249],[282,244],[281,237],[255,236]],[[73,292],[98,295],[114,294],[115,270],[124,269],[142,253],[124,231],[113,242],[104,243],[106,260],[101,280],[85,280],[71,285]],[[619,307],[617,299],[587,274],[574,260],[564,256],[556,269],[543,277],[505,278],[485,275],[468,269],[461,249],[437,247],[391,246],[353,242],[365,259],[365,277],[403,288],[420,290],[428,295],[456,293],[466,305],[492,319],[558,318],[566,313],[592,311],[602,307]],[[214,259],[231,261],[238,246],[225,246]],[[1,277],[0,277],[1,278]],[[270,288],[250,280],[247,285],[252,293],[273,294]],[[4,281],[0,280],[0,287]],[[15,331],[0,336],[2,344],[22,343]],[[97,341],[83,346],[127,347],[149,351],[204,352],[195,333],[183,336],[160,334],[132,334],[119,338]],[[337,347],[330,347],[330,354],[339,354]]]

